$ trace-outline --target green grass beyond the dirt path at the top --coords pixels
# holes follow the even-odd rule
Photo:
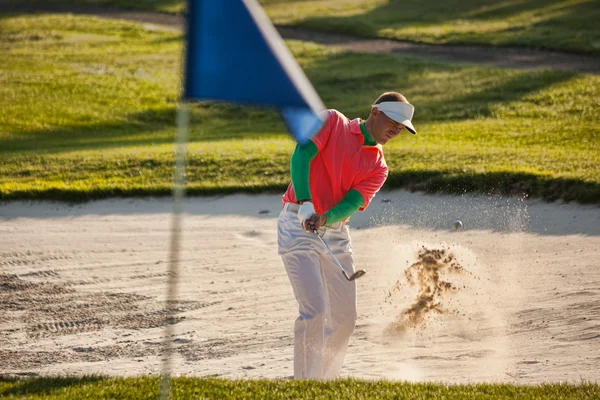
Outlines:
[[[64,0],[50,0],[64,2]],[[70,0],[181,13],[182,0]],[[274,23],[435,44],[600,55],[598,0],[260,0]]]

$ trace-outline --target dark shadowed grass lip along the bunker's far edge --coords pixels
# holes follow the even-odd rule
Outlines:
[[[191,173],[191,172],[190,172]],[[189,196],[214,196],[235,193],[281,193],[287,188],[285,183],[264,183],[255,186],[232,184],[226,187],[190,186]],[[408,189],[426,193],[486,195],[518,195],[534,197],[546,201],[577,201],[581,204],[598,204],[600,184],[581,179],[546,178],[534,174],[496,173],[448,173],[444,171],[392,171],[384,189]],[[27,189],[10,193],[0,192],[0,201],[13,200],[56,200],[66,203],[80,203],[107,198],[166,197],[171,196],[170,187],[163,188],[97,188],[97,189]]]

